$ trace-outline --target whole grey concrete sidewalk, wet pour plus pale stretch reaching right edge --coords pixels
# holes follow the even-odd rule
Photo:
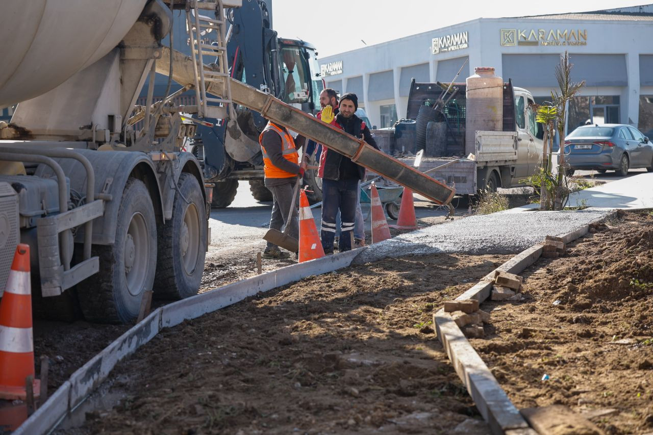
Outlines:
[[[541,242],[547,235],[571,233],[607,216],[611,210],[653,208],[653,173],[584,189],[569,199],[569,206],[583,201],[590,208],[541,212],[536,210],[539,204],[528,204],[505,212],[434,225],[374,244],[360,253],[353,263],[431,253],[518,253]]]

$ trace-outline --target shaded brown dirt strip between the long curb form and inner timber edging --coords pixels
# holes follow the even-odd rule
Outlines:
[[[486,434],[431,319],[508,258],[352,266],[164,330],[67,433]]]

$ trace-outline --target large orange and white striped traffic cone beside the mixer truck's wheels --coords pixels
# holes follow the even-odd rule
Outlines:
[[[29,245],[16,246],[0,302],[0,398],[25,400],[25,378],[34,376]],[[40,381],[33,382],[35,398]]]

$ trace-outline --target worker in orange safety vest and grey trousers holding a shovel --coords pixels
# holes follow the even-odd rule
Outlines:
[[[298,238],[299,225],[293,189],[297,177],[302,178],[306,169],[306,161],[299,164],[297,150],[302,148],[304,142],[306,142],[306,138],[302,135],[293,139],[285,127],[276,125],[272,121],[268,122],[259,136],[259,144],[261,144],[261,152],[263,152],[264,184],[272,192],[273,200],[270,229],[281,231],[281,227],[286,225],[289,236],[294,238]],[[287,222],[291,207],[294,210],[293,215]],[[283,259],[289,258],[290,253],[281,251],[279,246],[268,242],[263,251],[263,257]]]

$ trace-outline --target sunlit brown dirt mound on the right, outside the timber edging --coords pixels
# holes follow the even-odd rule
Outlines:
[[[471,344],[517,408],[611,408],[594,423],[643,434],[653,432],[653,214],[608,225],[526,269],[526,300],[483,304],[490,334]]]

